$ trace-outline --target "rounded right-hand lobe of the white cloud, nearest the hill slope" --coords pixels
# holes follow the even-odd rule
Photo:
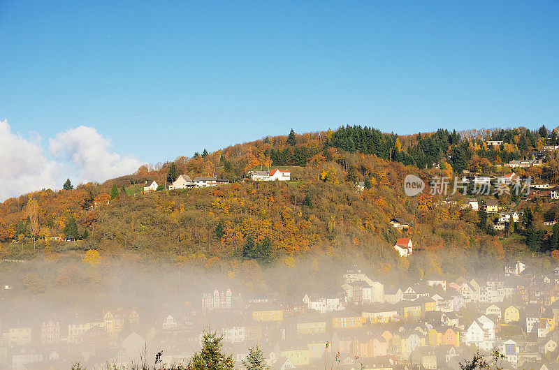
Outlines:
[[[58,160],[69,161],[80,181],[102,181],[130,174],[142,162],[131,154],[120,156],[108,149],[110,140],[93,127],[80,126],[49,140],[49,151]]]

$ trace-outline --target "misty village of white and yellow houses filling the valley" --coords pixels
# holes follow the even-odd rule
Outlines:
[[[397,246],[412,254],[409,239]],[[63,369],[72,359],[100,370],[128,365],[146,345],[150,353],[164,349],[166,364],[178,364],[198,349],[204,330],[213,330],[238,364],[257,344],[277,370],[325,363],[348,370],[456,369],[477,350],[493,349],[504,355],[502,369],[559,368],[559,267],[535,275],[518,261],[486,276],[430,276],[393,286],[352,266],[339,286],[291,299],[227,286],[177,297],[180,303],[164,304],[156,317],[142,307],[107,308],[89,318],[53,313],[41,321],[12,312],[0,327],[0,364]]]

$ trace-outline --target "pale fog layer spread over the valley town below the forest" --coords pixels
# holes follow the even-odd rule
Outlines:
[[[130,367],[160,351],[184,364],[205,330],[222,334],[239,368],[255,345],[282,370],[456,369],[493,348],[505,369],[556,366],[559,269],[518,261],[476,276],[386,279],[366,263],[315,262],[212,272],[114,260],[62,273],[1,262],[1,368]],[[40,272],[55,270],[47,289]]]

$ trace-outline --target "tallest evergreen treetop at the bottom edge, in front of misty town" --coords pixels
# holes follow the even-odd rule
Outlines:
[[[189,370],[233,370],[235,364],[233,355],[222,353],[223,336],[218,336],[216,332],[206,332],[202,334],[202,349],[194,353],[187,369]]]

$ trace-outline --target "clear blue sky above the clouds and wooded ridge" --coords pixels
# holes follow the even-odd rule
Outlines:
[[[47,157],[88,126],[150,163],[291,127],[555,127],[558,17],[558,1],[4,0],[0,119]]]

